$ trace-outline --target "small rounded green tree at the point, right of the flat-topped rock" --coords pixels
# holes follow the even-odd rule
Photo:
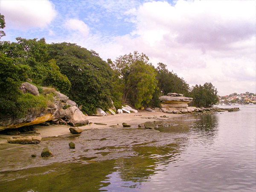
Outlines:
[[[205,83],[203,86],[201,84],[193,86],[189,96],[193,98],[192,105],[210,107],[218,102],[217,93],[218,91],[212,83]]]

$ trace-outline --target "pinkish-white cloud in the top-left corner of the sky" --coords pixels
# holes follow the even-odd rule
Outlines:
[[[49,0],[1,0],[0,6],[6,29],[44,28],[56,16]]]

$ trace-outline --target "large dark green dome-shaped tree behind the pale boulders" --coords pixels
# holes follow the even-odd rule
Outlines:
[[[91,114],[111,106],[113,70],[96,52],[64,42],[49,45],[49,58],[70,80],[68,96],[82,105],[82,111]]]

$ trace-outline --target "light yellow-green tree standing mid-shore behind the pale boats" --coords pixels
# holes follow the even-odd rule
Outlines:
[[[115,90],[122,91],[122,100],[129,100],[135,108],[148,105],[157,86],[154,67],[148,63],[148,57],[134,52],[120,56],[112,64],[116,73]]]

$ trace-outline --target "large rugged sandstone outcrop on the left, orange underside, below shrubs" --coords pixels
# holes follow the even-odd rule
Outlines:
[[[49,101],[46,108],[42,109],[30,109],[29,112],[23,118],[13,117],[0,117],[0,131],[8,128],[19,128],[29,125],[37,125],[47,121],[58,122],[61,118],[67,118],[67,121],[74,125],[87,125],[88,120],[86,116],[76,107],[76,102],[71,101],[68,96],[56,91],[54,88],[41,87],[44,90],[44,94],[53,93],[54,101]],[[23,93],[26,91],[39,95],[38,89],[35,85],[30,83],[23,83],[21,88]],[[64,107],[71,106],[64,110]],[[73,106],[72,106],[73,105]],[[64,119],[65,120],[65,119]],[[61,120],[61,122],[64,122]]]

